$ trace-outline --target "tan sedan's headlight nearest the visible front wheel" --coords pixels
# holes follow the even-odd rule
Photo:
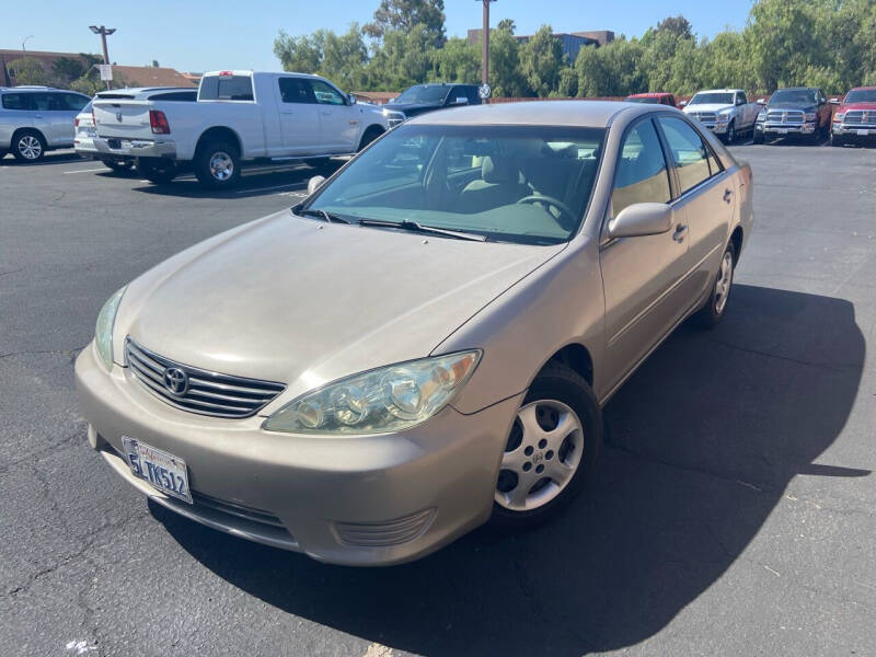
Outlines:
[[[383,434],[443,408],[469,380],[481,351],[381,367],[328,383],[289,402],[262,425],[289,434]]]

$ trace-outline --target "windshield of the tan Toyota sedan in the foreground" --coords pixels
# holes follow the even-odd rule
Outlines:
[[[581,221],[603,129],[402,125],[303,209],[557,244]]]

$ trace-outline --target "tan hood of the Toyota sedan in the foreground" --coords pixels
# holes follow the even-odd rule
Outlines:
[[[428,356],[562,251],[330,224],[289,211],[217,235],[130,284],[114,330],[168,358],[296,394]],[[477,347],[479,345],[471,345]]]

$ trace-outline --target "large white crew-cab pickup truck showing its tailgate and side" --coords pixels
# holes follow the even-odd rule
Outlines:
[[[135,160],[154,183],[169,183],[191,165],[214,188],[233,186],[244,162],[320,166],[355,153],[390,118],[319,76],[238,70],[205,73],[195,103],[99,96],[92,110],[101,159]]]

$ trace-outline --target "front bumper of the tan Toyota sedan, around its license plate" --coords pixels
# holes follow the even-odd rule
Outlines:
[[[107,372],[93,344],[76,364],[90,439],[123,477],[193,520],[330,563],[418,558],[485,522],[522,393],[473,415],[448,406],[397,434],[325,438],[264,431],[264,417],[178,411]],[[130,436],[182,458],[195,504],[135,477],[120,457]]]

